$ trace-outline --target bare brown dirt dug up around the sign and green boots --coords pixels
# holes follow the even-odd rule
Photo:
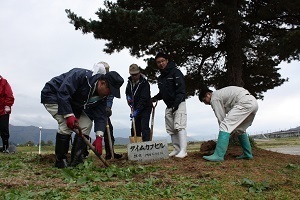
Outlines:
[[[129,167],[129,166],[153,166],[158,167],[159,171],[153,176],[165,176],[176,174],[192,177],[220,177],[227,176],[229,174],[233,176],[243,176],[245,171],[255,171],[257,177],[260,177],[261,173],[267,173],[265,170],[268,169],[276,172],[286,167],[286,163],[300,165],[300,156],[297,155],[288,155],[277,152],[272,152],[268,150],[263,150],[260,148],[253,148],[253,159],[252,160],[238,160],[237,156],[242,154],[242,148],[240,146],[230,146],[226,152],[225,161],[220,163],[209,162],[202,158],[202,156],[209,153],[213,153],[214,148],[213,143],[207,143],[203,147],[201,146],[201,151],[188,152],[186,158],[175,158],[170,157],[169,159],[157,160],[152,162],[135,162],[129,161],[126,154],[123,154],[121,159],[112,159],[107,160],[109,165],[116,165],[118,167]],[[68,155],[69,157],[70,155]],[[105,165],[100,159],[98,159],[93,152],[90,153],[90,156],[93,158],[94,164],[101,168],[104,168]],[[69,159],[70,160],[70,159]],[[39,158],[39,163],[41,165],[51,165],[53,166],[55,162],[55,155],[42,155]],[[271,163],[278,163],[276,166]],[[270,165],[270,166],[269,166]],[[237,170],[233,170],[236,168]],[[172,173],[172,174],[170,174]],[[273,172],[272,172],[273,173]],[[138,177],[137,177],[138,178]],[[140,177],[141,178],[141,177]]]

